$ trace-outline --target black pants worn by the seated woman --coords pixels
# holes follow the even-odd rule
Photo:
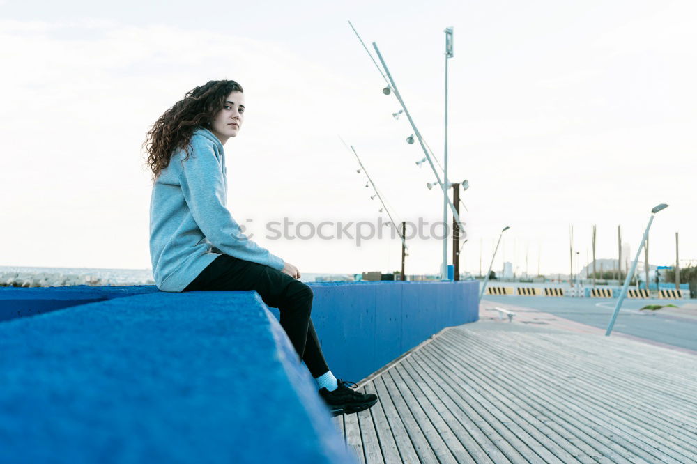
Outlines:
[[[281,327],[313,377],[329,371],[314,330],[312,288],[269,266],[222,254],[215,258],[183,291],[256,290],[267,306],[278,308]]]

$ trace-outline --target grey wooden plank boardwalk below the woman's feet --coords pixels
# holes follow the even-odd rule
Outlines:
[[[697,356],[555,320],[443,330],[361,382],[380,401],[335,418],[347,447],[365,463],[697,463]]]

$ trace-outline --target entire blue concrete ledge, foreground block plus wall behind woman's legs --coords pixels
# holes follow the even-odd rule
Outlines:
[[[477,282],[310,285],[346,380],[478,317]],[[355,462],[256,292],[0,288],[3,308],[2,462]]]

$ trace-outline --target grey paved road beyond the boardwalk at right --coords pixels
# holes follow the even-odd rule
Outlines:
[[[639,311],[647,304],[682,306],[695,300],[625,300],[613,332],[622,332],[697,351],[697,318]],[[554,314],[578,323],[606,329],[617,304],[616,298],[485,296],[485,303],[508,303]],[[697,313],[697,311],[696,311]]]

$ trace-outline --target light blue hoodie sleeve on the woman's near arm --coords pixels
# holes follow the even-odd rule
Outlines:
[[[284,261],[247,238],[226,208],[224,174],[213,146],[195,140],[191,145],[179,183],[201,232],[224,254],[282,270]]]

